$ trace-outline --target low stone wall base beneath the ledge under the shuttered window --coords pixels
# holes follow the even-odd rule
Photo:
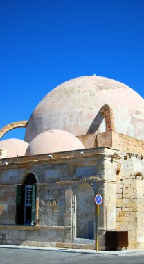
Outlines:
[[[0,240],[8,245],[55,247],[71,228],[62,226],[0,226]]]

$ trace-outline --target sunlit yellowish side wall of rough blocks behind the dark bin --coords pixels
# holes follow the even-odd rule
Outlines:
[[[128,230],[129,248],[144,246],[144,160],[123,153],[116,171],[116,229]]]

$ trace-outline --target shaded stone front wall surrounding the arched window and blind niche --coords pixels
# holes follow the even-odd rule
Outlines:
[[[1,236],[5,235],[4,242],[16,242],[19,245],[39,245],[39,242],[50,245],[48,243],[53,242],[60,243],[55,246],[90,248],[89,245],[75,245],[74,242],[77,236],[75,189],[82,183],[89,183],[94,190],[93,201],[95,193],[100,193],[103,198],[100,206],[99,245],[100,249],[105,249],[105,230],[116,227],[116,167],[119,152],[106,148],[87,149],[84,155],[79,152],[68,151],[67,157],[66,153],[62,153],[53,154],[53,158],[41,155],[1,160],[0,233]],[[37,179],[36,226],[17,226],[16,188],[17,184],[24,184],[30,173]],[[45,237],[44,226],[48,228]],[[38,232],[41,230],[42,233]]]

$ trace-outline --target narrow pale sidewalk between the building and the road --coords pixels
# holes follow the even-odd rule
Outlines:
[[[101,254],[101,255],[127,255],[127,254],[144,254],[143,249],[127,249],[122,251],[96,251],[96,250],[86,250],[86,249],[66,249],[59,247],[32,247],[32,246],[15,246],[15,245],[0,245],[0,248],[10,248],[10,249],[29,249],[29,250],[41,250],[41,251],[60,251],[69,253],[80,253],[80,254]]]

